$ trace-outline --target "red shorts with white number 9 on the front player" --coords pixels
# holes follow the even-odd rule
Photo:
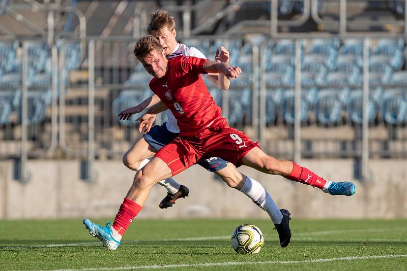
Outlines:
[[[258,147],[257,142],[254,143],[244,132],[229,127],[226,119],[222,118],[193,138],[172,140],[154,156],[163,160],[174,176],[200,159],[215,156],[241,166],[243,157],[254,147]]]

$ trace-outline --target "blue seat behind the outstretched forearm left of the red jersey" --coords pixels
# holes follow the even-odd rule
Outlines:
[[[122,90],[117,98],[113,100],[112,104],[112,114],[113,119],[118,119],[118,115],[122,110],[136,106],[143,101],[146,96],[147,91],[136,91],[136,90]],[[136,125],[135,121],[141,114],[134,114],[129,120],[119,120],[121,125],[131,126]]]

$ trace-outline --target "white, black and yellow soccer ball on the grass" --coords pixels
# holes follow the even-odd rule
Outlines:
[[[264,245],[263,233],[252,224],[243,224],[233,231],[230,244],[239,254],[255,254]]]

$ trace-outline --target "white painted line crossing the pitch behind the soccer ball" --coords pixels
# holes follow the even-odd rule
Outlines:
[[[297,241],[309,241],[314,240],[314,238],[296,238],[296,236],[307,236],[307,235],[324,235],[324,234],[339,234],[339,233],[350,233],[350,232],[381,232],[389,230],[405,230],[407,227],[395,227],[395,228],[377,228],[377,229],[345,229],[345,230],[326,230],[326,231],[313,231],[313,232],[298,232],[293,233],[293,240]],[[122,244],[134,244],[141,242],[176,242],[176,241],[209,241],[209,240],[227,240],[230,235],[223,236],[200,236],[200,237],[190,237],[190,238],[173,238],[173,239],[162,239],[162,240],[125,240]],[[277,237],[276,237],[277,238]],[[267,238],[275,239],[275,238]],[[401,239],[354,239],[354,241],[395,241],[403,242],[405,240]],[[79,247],[86,245],[98,245],[99,241],[96,242],[82,242],[82,243],[67,243],[67,244],[50,244],[50,245],[22,245],[13,247],[2,247],[0,249],[18,249],[18,248],[54,248],[54,247]]]

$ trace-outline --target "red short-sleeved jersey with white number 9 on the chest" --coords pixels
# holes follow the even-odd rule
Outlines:
[[[180,136],[184,138],[196,136],[222,118],[222,110],[199,75],[206,73],[203,70],[206,60],[193,56],[168,59],[165,76],[150,81],[150,89],[176,117]]]

